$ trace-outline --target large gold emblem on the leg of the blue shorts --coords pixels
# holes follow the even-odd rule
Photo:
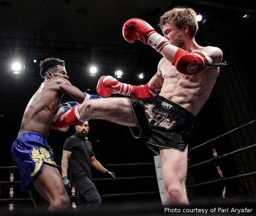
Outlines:
[[[31,154],[31,158],[36,164],[35,170],[33,171],[33,173],[31,173],[31,177],[40,170],[43,161],[49,164],[56,165],[56,163],[50,158],[50,153],[42,147],[40,147],[40,149],[35,149],[35,147],[33,147],[33,150],[31,150]]]

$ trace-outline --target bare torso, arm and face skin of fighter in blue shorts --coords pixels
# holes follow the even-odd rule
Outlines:
[[[55,112],[59,109],[63,93],[82,102],[84,93],[68,82],[63,66],[57,65],[49,79],[45,80],[30,99],[21,123],[20,130],[34,131],[47,136],[53,125]]]

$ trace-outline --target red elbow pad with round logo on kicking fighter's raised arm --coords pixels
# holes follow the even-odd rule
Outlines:
[[[185,75],[195,75],[206,67],[207,58],[201,52],[190,53],[178,48],[172,60],[172,65],[176,66],[178,72]]]

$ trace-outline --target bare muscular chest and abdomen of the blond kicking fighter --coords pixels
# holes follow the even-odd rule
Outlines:
[[[212,92],[217,76],[212,70],[183,75],[169,62],[162,65],[164,83],[159,95],[179,104],[196,116]]]

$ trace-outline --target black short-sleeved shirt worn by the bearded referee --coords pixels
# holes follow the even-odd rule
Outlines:
[[[92,179],[90,158],[94,156],[94,153],[88,138],[75,133],[65,140],[63,150],[72,152],[68,161],[71,181],[85,175]]]

